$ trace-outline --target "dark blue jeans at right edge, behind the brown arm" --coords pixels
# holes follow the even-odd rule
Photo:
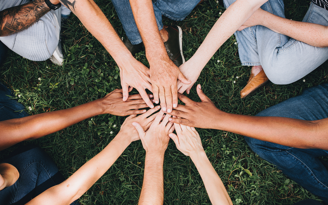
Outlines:
[[[328,83],[305,89],[297,97],[267,108],[256,116],[290,117],[319,120],[328,117]],[[328,204],[328,171],[319,156],[328,156],[320,149],[298,149],[249,137],[245,141],[264,160],[277,166],[287,177]]]

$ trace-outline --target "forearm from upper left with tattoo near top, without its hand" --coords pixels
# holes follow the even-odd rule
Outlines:
[[[112,24],[92,0],[60,0],[82,22],[85,28],[105,47],[120,67],[133,56],[117,35]],[[92,18],[91,18],[92,17]],[[134,59],[135,60],[135,59]]]

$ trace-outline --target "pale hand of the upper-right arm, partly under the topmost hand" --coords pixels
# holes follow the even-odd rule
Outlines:
[[[190,84],[184,84],[182,83],[180,80],[178,80],[178,92],[183,93],[186,91],[187,94],[190,93],[190,89],[193,87],[193,85],[195,84],[195,82],[197,81],[201,70],[199,71],[199,69],[194,69],[193,68],[193,64],[190,63],[192,61],[187,61],[184,64],[182,64],[179,67],[179,70],[182,72],[182,74],[184,74],[184,76],[191,81]]]

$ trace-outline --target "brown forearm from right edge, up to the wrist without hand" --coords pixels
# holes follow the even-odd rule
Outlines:
[[[306,121],[287,117],[249,116],[220,111],[213,129],[295,148],[328,150],[328,118]]]

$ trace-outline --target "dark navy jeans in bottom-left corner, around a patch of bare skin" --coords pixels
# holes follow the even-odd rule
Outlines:
[[[18,180],[12,186],[0,191],[3,205],[26,204],[31,198],[64,181],[55,163],[39,147],[21,147],[2,163],[13,165],[19,172]],[[71,205],[75,204],[79,204],[77,200]]]

